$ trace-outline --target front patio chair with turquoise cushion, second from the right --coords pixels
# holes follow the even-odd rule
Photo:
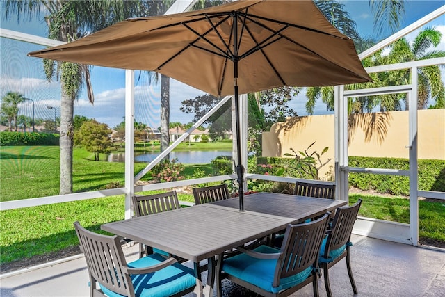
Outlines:
[[[216,268],[218,296],[227,278],[261,296],[289,296],[312,282],[318,296],[318,257],[328,215],[299,225],[288,225],[280,249],[261,245],[237,248],[241,254],[220,255]]]

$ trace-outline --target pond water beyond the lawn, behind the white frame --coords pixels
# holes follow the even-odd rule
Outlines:
[[[149,163],[159,155],[156,153],[135,154],[134,161]],[[211,160],[217,156],[232,156],[232,151],[229,150],[190,150],[186,152],[170,152],[170,160],[177,158],[180,163],[194,164],[194,163],[210,163]],[[124,162],[125,154],[112,153],[108,155],[108,162]]]

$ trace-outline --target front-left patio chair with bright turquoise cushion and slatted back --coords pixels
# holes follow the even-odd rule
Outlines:
[[[119,236],[90,232],[74,223],[90,278],[90,296],[183,296],[201,291],[193,269],[152,254],[127,263]],[[99,287],[97,287],[99,284]]]

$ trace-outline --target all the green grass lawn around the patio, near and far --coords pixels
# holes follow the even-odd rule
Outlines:
[[[0,147],[1,201],[58,194],[58,147]],[[74,191],[106,188],[124,182],[124,164],[90,161],[91,154],[74,150]],[[139,172],[145,164],[136,164]],[[209,165],[186,166],[184,175],[196,169],[212,172]],[[360,216],[409,223],[409,200],[371,195],[350,195],[350,202],[362,198]],[[179,200],[193,201],[179,193]],[[72,223],[79,220],[90,230],[124,218],[124,197],[97,198],[76,202],[0,211],[0,262],[42,255],[79,243]],[[421,239],[445,243],[445,202],[419,201]]]

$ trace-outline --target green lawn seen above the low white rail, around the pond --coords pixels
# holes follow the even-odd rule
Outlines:
[[[209,144],[207,144],[209,145]],[[229,143],[229,145],[231,145]],[[227,143],[211,143],[212,150],[227,148]],[[0,147],[0,201],[21,200],[51,195],[59,191],[59,147]],[[124,185],[124,163],[92,161],[93,155],[75,148],[73,154],[73,191],[86,192]],[[135,163],[135,174],[145,163]],[[209,164],[186,166],[183,175],[193,176],[197,168],[212,175]]]

